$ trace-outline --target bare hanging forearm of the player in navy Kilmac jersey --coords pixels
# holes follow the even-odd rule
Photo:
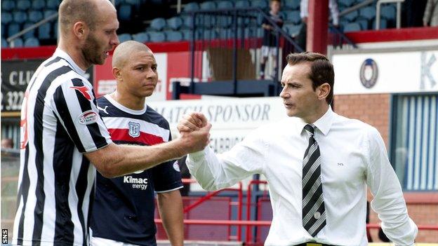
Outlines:
[[[180,191],[159,193],[158,206],[163,226],[171,245],[184,244],[183,200]]]

